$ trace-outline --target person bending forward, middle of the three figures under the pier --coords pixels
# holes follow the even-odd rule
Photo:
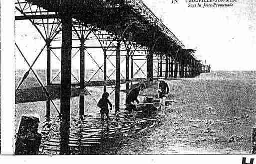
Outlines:
[[[136,101],[137,103],[140,103],[140,101],[138,100],[138,95],[140,93],[141,90],[143,90],[145,88],[145,84],[144,83],[140,83],[139,87],[132,89],[126,99],[126,103],[130,104],[126,107],[126,110],[128,110],[130,113],[133,113],[133,120],[134,122],[136,122],[136,106],[133,105]]]

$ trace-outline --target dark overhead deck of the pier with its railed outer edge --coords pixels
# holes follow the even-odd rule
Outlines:
[[[182,42],[142,0],[25,0],[61,18],[68,11],[84,25],[153,48],[155,52],[182,49]],[[54,15],[54,14],[52,14]],[[125,32],[124,32],[125,31]],[[158,39],[159,38],[159,39]],[[155,42],[158,40],[157,42]]]

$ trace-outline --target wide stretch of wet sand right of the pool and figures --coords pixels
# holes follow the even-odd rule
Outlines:
[[[170,88],[177,88],[170,92],[177,101],[175,111],[110,154],[250,154],[256,124],[256,80],[251,74],[214,72],[168,81]],[[156,91],[155,86],[144,92]],[[229,142],[232,135],[243,139]]]

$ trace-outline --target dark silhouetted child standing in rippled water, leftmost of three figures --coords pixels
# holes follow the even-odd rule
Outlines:
[[[109,125],[109,110],[108,104],[110,106],[110,110],[112,110],[112,104],[108,99],[109,93],[105,92],[102,94],[102,98],[99,100],[97,106],[100,107],[100,114],[101,114],[101,122],[103,124],[104,121],[104,114],[107,115],[107,124]]]

